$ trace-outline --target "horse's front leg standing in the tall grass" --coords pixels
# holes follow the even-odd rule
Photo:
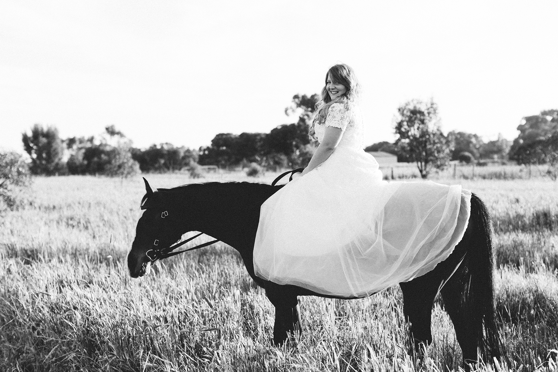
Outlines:
[[[300,327],[300,308],[296,294],[288,286],[267,282],[266,295],[275,306],[275,324],[273,325],[273,344],[280,346],[295,332],[302,332]]]

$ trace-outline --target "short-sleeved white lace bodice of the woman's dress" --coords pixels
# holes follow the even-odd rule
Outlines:
[[[316,137],[320,143],[324,140],[326,127],[337,127],[343,131],[343,137],[341,137],[338,147],[363,148],[364,126],[362,113],[357,105],[349,104],[348,108],[345,108],[343,103],[334,103],[330,106],[325,123],[316,123],[314,126]]]

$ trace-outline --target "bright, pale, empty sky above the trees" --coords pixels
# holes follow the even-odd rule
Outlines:
[[[294,94],[353,67],[365,144],[433,98],[444,132],[513,139],[558,108],[558,2],[12,1],[0,3],[0,148],[35,123],[110,124],[134,146],[208,146],[296,122]]]

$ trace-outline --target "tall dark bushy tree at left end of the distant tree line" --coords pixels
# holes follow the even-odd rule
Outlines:
[[[31,173],[34,175],[54,175],[64,170],[62,154],[64,147],[58,129],[49,125],[33,125],[31,134],[22,133],[23,148],[31,157]]]

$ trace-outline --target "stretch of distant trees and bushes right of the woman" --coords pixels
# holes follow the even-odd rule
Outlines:
[[[450,160],[466,163],[487,160],[515,161],[524,164],[549,164],[549,173],[558,174],[558,110],[542,110],[523,117],[513,143],[501,134],[484,142],[474,133],[451,131],[444,135],[434,100],[411,100],[398,108],[394,143],[379,142],[367,151],[396,154],[398,161],[415,162],[423,178],[432,170],[446,167]]]

